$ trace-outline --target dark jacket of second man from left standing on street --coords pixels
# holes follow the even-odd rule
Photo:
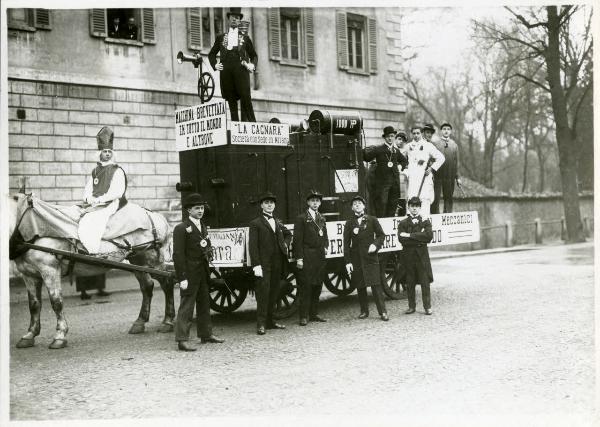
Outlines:
[[[271,266],[272,257],[279,252],[287,261],[288,244],[292,239],[292,232],[288,230],[279,218],[275,218],[275,232],[266,218],[260,214],[250,221],[250,262],[252,267],[257,265],[263,268]]]

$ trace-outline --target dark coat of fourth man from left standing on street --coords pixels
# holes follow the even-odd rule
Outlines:
[[[352,263],[350,282],[357,288],[381,284],[379,275],[378,251],[383,246],[385,233],[379,220],[371,215],[365,215],[361,224],[356,217],[346,221],[344,226],[344,260]],[[377,251],[370,254],[369,246],[374,244]]]

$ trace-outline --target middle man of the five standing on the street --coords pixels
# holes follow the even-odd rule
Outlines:
[[[319,316],[318,304],[325,275],[329,238],[325,217],[319,213],[323,195],[310,190],[306,196],[308,209],[294,222],[294,258],[298,268],[298,293],[300,298],[300,326],[308,321],[326,322]]]

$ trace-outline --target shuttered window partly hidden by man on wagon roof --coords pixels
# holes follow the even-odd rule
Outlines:
[[[224,8],[187,8],[188,49],[208,52],[217,35],[225,32],[226,25]]]

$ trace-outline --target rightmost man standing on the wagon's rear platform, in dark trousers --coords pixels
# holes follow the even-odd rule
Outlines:
[[[458,145],[450,138],[452,125],[448,122],[442,123],[440,127],[441,137],[433,142],[433,145],[444,155],[446,161],[434,173],[433,191],[434,200],[431,204],[431,213],[440,213],[440,196],[444,194],[444,213],[452,212],[454,198],[454,183],[460,186],[458,177]]]

